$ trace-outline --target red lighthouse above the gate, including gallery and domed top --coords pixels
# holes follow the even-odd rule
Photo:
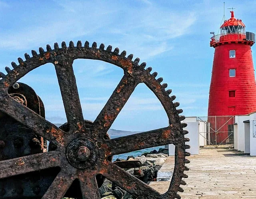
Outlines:
[[[251,46],[255,34],[245,32],[242,20],[231,18],[211,38],[215,48],[208,116],[246,115],[256,111],[256,83]]]

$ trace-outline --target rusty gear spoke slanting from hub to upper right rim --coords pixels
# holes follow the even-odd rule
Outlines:
[[[125,74],[123,76],[113,94],[110,96],[110,99],[108,99],[108,102],[94,121],[94,127],[102,132],[102,136],[104,136],[111,127],[117,115],[138,85],[134,79],[129,78],[129,75],[130,74]]]

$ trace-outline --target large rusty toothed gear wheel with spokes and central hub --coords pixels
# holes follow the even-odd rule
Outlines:
[[[165,90],[167,84],[160,84],[163,79],[155,79],[157,73],[150,74],[152,68],[146,67],[146,63],[138,64],[140,59],[132,61],[133,55],[126,57],[126,51],[119,54],[119,49],[112,51],[112,46],[104,50],[104,44],[97,48],[96,42],[89,46],[81,41],[77,46],[71,41],[69,47],[62,42],[62,48],[54,44],[54,50],[49,45],[47,51],[39,48],[39,54],[32,50],[32,57],[25,54],[26,61],[18,58],[19,65],[12,62],[13,70],[6,68],[7,75],[0,73],[0,111],[10,115],[23,125],[29,127],[38,135],[44,137],[56,146],[54,151],[38,153],[0,161],[0,179],[20,175],[28,172],[39,171],[50,167],[59,167],[60,172],[42,196],[42,199],[61,199],[75,179],[80,182],[83,199],[99,199],[100,193],[96,182],[96,175],[101,174],[122,189],[128,191],[139,199],[170,199],[180,198],[178,191],[183,189],[180,185],[186,183],[182,178],[188,177],[184,171],[188,171],[185,163],[189,163],[186,156],[190,153],[185,149],[190,148],[184,137],[188,133],[183,130],[186,123],[181,123],[185,117],[179,116],[182,109],[176,109],[178,102],[173,103],[175,96],[169,97],[171,90]],[[84,117],[76,79],[72,64],[75,59],[102,60],[114,64],[124,70],[124,76],[110,99],[99,113],[90,127],[84,125]],[[20,104],[8,94],[11,87],[20,78],[31,70],[46,63],[55,66],[58,83],[64,102],[68,131],[63,131],[43,117]],[[170,125],[165,128],[147,131],[119,137],[104,139],[104,135],[116,119],[124,104],[140,83],[146,84],[162,103],[169,119]],[[160,194],[136,177],[130,175],[120,167],[108,161],[108,157],[136,151],[154,146],[173,143],[175,145],[175,167],[168,191]]]

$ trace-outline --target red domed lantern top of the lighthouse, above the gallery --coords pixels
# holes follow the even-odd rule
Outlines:
[[[226,33],[235,33],[235,32],[243,32],[245,25],[242,20],[238,20],[234,17],[234,11],[231,12],[231,18],[229,20],[224,21],[224,23],[220,26],[220,29],[226,30]]]

